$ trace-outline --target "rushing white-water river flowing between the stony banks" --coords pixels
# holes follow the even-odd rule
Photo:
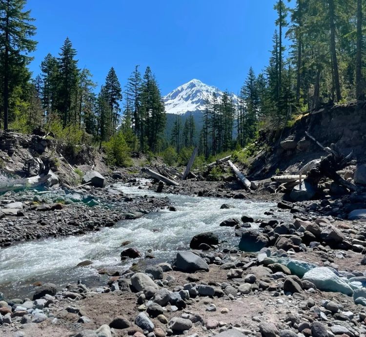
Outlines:
[[[154,195],[151,191],[137,187],[121,185],[123,193],[128,195]],[[102,228],[80,236],[59,237],[19,243],[1,250],[0,288],[7,296],[28,295],[34,291],[32,284],[37,281],[53,282],[65,285],[81,279],[83,283],[93,285],[107,278],[99,273],[123,271],[131,265],[131,260],[121,261],[121,252],[126,248],[135,248],[142,253],[141,266],[170,261],[177,251],[189,248],[189,242],[195,234],[214,232],[224,247],[237,248],[240,237],[235,236],[233,228],[220,227],[228,218],[238,218],[245,213],[254,219],[266,218],[275,204],[252,202],[248,200],[193,197],[172,194],[168,196],[177,211],[164,209],[135,220],[122,220],[113,228]],[[224,202],[232,208],[221,209]],[[256,228],[257,224],[252,224]],[[122,243],[131,243],[122,247]],[[149,253],[153,259],[144,259]],[[150,256],[151,257],[151,256]],[[93,263],[77,267],[84,260]],[[110,273],[108,273],[110,274]],[[113,272],[112,272],[113,274]]]

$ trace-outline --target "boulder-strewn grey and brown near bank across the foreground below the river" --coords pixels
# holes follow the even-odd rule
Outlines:
[[[129,184],[142,193],[154,188]],[[129,268],[98,286],[75,279],[44,283],[29,298],[4,298],[1,336],[366,336],[366,223],[345,219],[352,198],[358,207],[364,202],[363,191],[329,204],[276,201],[257,216],[237,216],[234,195],[217,204],[235,213],[217,227],[237,241],[225,242],[224,232],[187,232],[190,243],[149,266],[132,243],[121,248]]]

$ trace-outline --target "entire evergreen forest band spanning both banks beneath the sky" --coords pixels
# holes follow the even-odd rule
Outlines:
[[[268,65],[249,69],[238,100],[227,91],[206,97],[202,128],[192,115],[177,117],[170,137],[157,80],[146,67],[133,69],[122,86],[113,67],[97,89],[66,38],[58,55],[48,54],[36,77],[28,66],[36,49],[36,26],[26,0],[0,0],[0,99],[4,129],[47,133],[72,144],[111,151],[179,154],[199,146],[211,155],[244,147],[261,128],[280,130],[300,113],[324,103],[365,95],[365,0],[278,0]],[[243,42],[244,43],[244,42]],[[127,77],[127,76],[126,76]]]

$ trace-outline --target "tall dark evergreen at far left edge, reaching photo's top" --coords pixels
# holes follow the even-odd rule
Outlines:
[[[0,58],[3,89],[4,130],[8,129],[9,96],[15,86],[25,84],[29,77],[26,65],[31,61],[27,53],[36,49],[32,40],[36,27],[31,23],[30,10],[24,10],[26,0],[0,0],[0,44],[3,48]],[[21,81],[24,82],[21,82]]]

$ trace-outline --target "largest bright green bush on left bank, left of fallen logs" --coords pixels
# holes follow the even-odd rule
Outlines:
[[[107,153],[107,164],[127,167],[132,165],[130,148],[122,132],[117,132],[108,142],[103,143]]]

